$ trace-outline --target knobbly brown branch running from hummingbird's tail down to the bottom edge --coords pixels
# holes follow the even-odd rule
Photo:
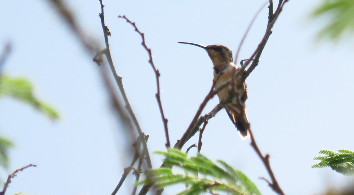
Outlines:
[[[264,180],[268,183],[270,188],[272,188],[276,193],[278,193],[280,195],[285,195],[284,192],[281,190],[281,188],[280,188],[280,186],[278,184],[278,181],[276,181],[276,178],[274,176],[272,168],[270,167],[269,154],[266,154],[265,156],[263,156],[262,153],[261,153],[261,150],[259,150],[259,148],[257,146],[256,140],[253,137],[251,129],[249,129],[249,134],[250,134],[250,137],[251,137],[251,146],[253,147],[253,149],[255,149],[257,155],[262,160],[262,162],[263,162],[263,164],[265,166],[265,169],[267,169],[267,172],[268,172],[268,174],[270,176],[270,179],[272,179],[272,183],[270,183],[267,179],[264,179]]]

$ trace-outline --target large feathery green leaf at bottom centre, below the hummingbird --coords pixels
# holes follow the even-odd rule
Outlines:
[[[260,195],[256,185],[241,171],[233,169],[224,161],[218,160],[218,166],[200,153],[196,157],[188,158],[181,150],[169,148],[167,152],[156,152],[164,155],[165,167],[150,169],[148,178],[136,183],[154,184],[157,189],[182,183],[186,189],[178,195],[198,195],[210,192],[226,192],[228,194]],[[184,174],[172,172],[173,167],[178,167]]]

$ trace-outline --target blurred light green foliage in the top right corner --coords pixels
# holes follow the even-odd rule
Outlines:
[[[319,38],[337,40],[344,32],[354,31],[353,0],[323,0],[312,13],[313,17],[328,16],[328,24],[319,33]]]

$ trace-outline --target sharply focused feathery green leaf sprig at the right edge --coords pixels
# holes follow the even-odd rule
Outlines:
[[[330,150],[321,150],[320,154],[326,156],[316,156],[314,160],[320,160],[312,168],[331,167],[331,169],[343,175],[354,175],[354,152],[341,149],[339,153]]]

